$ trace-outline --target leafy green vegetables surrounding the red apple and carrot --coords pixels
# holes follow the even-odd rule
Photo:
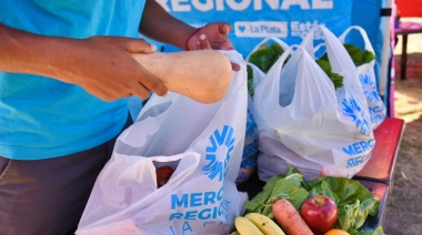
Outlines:
[[[254,212],[274,218],[272,206],[280,198],[289,201],[299,213],[303,202],[312,195],[326,195],[334,200],[338,219],[333,228],[341,228],[351,235],[384,234],[381,226],[374,231],[359,231],[368,216],[378,214],[380,206],[380,201],[359,181],[321,176],[304,182],[303,175],[290,167],[285,174],[271,177],[260,193],[244,203],[245,213]]]

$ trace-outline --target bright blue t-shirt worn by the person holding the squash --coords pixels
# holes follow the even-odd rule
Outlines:
[[[139,38],[143,8],[144,0],[0,1],[0,22],[43,35]],[[0,72],[1,156],[38,160],[88,150],[115,136],[127,116],[127,99],[105,102],[54,79]]]

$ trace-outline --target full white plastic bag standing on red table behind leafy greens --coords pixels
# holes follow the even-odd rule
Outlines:
[[[356,85],[350,84],[358,82],[349,78],[356,75],[355,69],[345,75],[343,91],[336,92],[309,52],[292,48],[257,88],[259,177],[268,181],[285,173],[288,166],[301,171],[307,181],[321,175],[352,177],[374,146],[369,115],[355,96],[363,92],[354,94],[351,86]]]

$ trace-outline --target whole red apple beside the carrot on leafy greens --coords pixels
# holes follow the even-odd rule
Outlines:
[[[338,217],[335,202],[325,195],[308,197],[301,206],[301,216],[315,234],[323,234],[334,226]]]

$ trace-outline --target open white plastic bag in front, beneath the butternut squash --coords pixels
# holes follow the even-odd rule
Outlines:
[[[245,63],[227,95],[203,104],[169,93],[152,95],[137,121],[119,135],[100,173],[77,234],[229,234],[244,212],[247,193],[235,180],[247,126]],[[171,166],[158,186],[155,171]]]

